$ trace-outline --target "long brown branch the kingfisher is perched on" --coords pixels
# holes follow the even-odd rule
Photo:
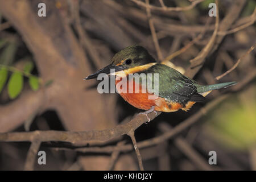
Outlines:
[[[160,114],[155,115],[154,112],[148,114],[150,120],[154,119]],[[60,141],[79,143],[91,140],[109,140],[120,135],[128,134],[131,130],[137,129],[143,123],[147,122],[147,117],[144,114],[139,114],[136,118],[131,119],[130,122],[123,125],[118,125],[112,129],[106,130],[92,130],[92,131],[32,131],[32,132],[14,132],[14,133],[0,133],[0,141],[5,142],[21,142],[34,141],[40,142]]]

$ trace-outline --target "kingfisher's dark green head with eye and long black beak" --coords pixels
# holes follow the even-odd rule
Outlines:
[[[121,51],[117,52],[112,60],[111,63],[98,70],[97,72],[93,73],[86,77],[86,80],[97,78],[100,73],[110,74],[110,69],[114,69],[113,73],[126,71],[131,68],[139,67],[146,65],[148,63],[155,63],[154,57],[152,57],[147,50],[142,46],[129,46]]]

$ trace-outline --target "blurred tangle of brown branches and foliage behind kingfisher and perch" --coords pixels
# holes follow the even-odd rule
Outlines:
[[[46,16],[39,17],[42,2]],[[134,44],[184,73],[213,34],[211,2],[0,0],[0,132],[103,130],[128,122],[141,110],[118,94],[98,93],[97,81],[82,78]],[[246,54],[256,43],[255,5],[254,0],[220,1],[216,41],[193,78],[200,84],[238,84],[214,90],[188,112],[162,113],[139,127],[137,142],[150,141],[203,113],[174,137],[140,148],[146,170],[256,169],[256,51]],[[237,61],[236,69],[215,79]],[[127,136],[79,146],[43,142],[39,150],[46,151],[47,164],[36,160],[34,169],[137,170],[134,150],[107,150],[129,144]],[[24,169],[29,147],[30,142],[1,141],[0,169]],[[209,151],[216,151],[216,165],[209,165]]]

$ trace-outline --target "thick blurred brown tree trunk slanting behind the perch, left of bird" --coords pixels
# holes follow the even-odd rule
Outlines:
[[[38,16],[40,2],[46,3],[46,17]],[[86,89],[92,82],[82,81],[92,71],[55,1],[0,1],[0,11],[33,53],[40,77],[44,81],[53,80],[45,90],[46,109],[55,109],[67,130],[113,127],[113,109],[105,106],[106,100],[95,89]],[[5,114],[14,112],[9,110]]]

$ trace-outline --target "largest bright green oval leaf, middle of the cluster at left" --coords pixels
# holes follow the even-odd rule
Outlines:
[[[8,82],[8,94],[11,99],[19,96],[23,88],[23,76],[20,72],[14,72]]]

